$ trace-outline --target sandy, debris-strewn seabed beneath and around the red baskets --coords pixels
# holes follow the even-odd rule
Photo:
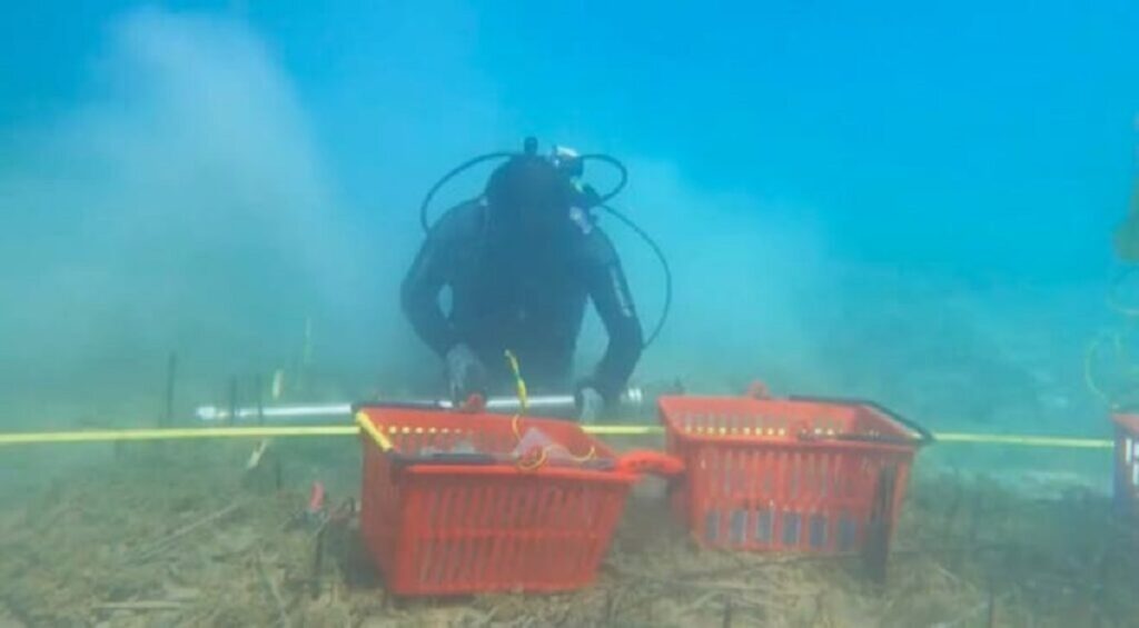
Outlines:
[[[646,481],[591,587],[400,600],[385,594],[352,517],[323,528],[297,518],[313,478],[334,510],[355,497],[355,448],[280,441],[249,473],[252,446],[123,445],[10,499],[0,626],[1107,627],[1139,617],[1139,522],[1113,515],[1106,496],[1029,496],[943,472],[911,484],[885,585],[867,580],[858,556],[699,550],[663,486]]]

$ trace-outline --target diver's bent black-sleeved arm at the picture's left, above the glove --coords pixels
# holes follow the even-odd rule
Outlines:
[[[403,313],[411,327],[440,356],[446,355],[459,341],[454,328],[439,304],[439,295],[446,283],[452,263],[450,254],[453,247],[445,240],[439,232],[427,237],[400,290]]]

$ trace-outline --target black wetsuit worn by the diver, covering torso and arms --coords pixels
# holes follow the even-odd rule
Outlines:
[[[616,251],[593,225],[566,221],[556,238],[535,241],[490,220],[482,201],[452,209],[431,231],[402,289],[416,332],[440,356],[468,345],[487,370],[491,394],[513,391],[503,358],[518,357],[534,392],[595,388],[613,402],[641,353],[641,325]],[[451,290],[450,313],[440,296]],[[573,355],[585,304],[592,300],[608,332],[592,375],[573,381]]]

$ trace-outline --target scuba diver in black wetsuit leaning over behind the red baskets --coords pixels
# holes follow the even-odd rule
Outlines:
[[[432,195],[489,157],[506,162],[484,193],[427,228]],[[644,348],[641,324],[617,253],[590,213],[624,184],[624,168],[605,157],[621,167],[622,183],[601,197],[577,182],[583,157],[566,149],[540,156],[527,139],[521,154],[491,154],[456,168],[424,201],[427,238],[401,301],[416,333],[443,360],[453,400],[514,390],[507,350],[531,390],[573,390],[582,422],[596,421],[624,390]],[[449,313],[440,305],[444,288]],[[608,346],[593,372],[575,382],[574,350],[590,300]]]

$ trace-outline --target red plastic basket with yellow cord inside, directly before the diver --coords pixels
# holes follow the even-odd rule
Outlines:
[[[591,582],[637,474],[574,423],[522,419],[584,463],[526,470],[509,416],[360,407],[361,530],[398,595],[555,592]]]

